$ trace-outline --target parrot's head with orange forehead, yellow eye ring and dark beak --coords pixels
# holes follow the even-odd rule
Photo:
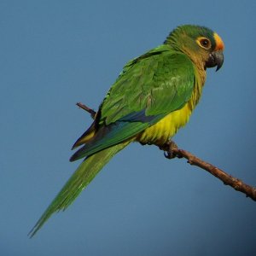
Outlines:
[[[164,44],[189,55],[197,67],[222,67],[224,43],[216,32],[205,26],[178,26]]]

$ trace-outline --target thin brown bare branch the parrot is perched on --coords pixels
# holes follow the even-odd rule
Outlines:
[[[79,108],[83,108],[86,112],[90,113],[92,119],[95,119],[96,112],[88,108],[82,103],[77,103]],[[165,145],[160,146],[160,150],[164,150],[166,152],[165,156],[168,159],[172,158],[185,158],[191,166],[198,166],[201,169],[211,173],[213,176],[218,177],[225,185],[229,185],[233,189],[240,191],[245,194],[247,197],[250,197],[253,201],[256,201],[256,188],[253,186],[249,186],[246,183],[243,183],[241,179],[231,176],[230,174],[224,172],[216,166],[212,166],[212,164],[207,163],[204,160],[196,157],[194,154],[189,153],[189,151],[183,150],[181,148],[177,148],[177,145],[172,141],[166,143]]]

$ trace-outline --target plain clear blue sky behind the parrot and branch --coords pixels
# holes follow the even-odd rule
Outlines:
[[[1,1],[1,255],[253,255],[256,204],[185,160],[132,144],[73,206],[26,236],[79,162],[68,161],[126,61],[178,25],[224,39],[175,142],[256,185],[255,1]]]

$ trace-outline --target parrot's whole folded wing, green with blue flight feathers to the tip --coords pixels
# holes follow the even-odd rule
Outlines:
[[[195,71],[187,55],[160,45],[126,64],[96,119],[96,136],[70,160],[135,137],[189,101]]]

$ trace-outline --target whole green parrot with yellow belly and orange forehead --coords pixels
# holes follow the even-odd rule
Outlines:
[[[127,62],[90,128],[73,148],[84,158],[30,232],[65,210],[114,154],[131,142],[167,143],[199,102],[207,67],[222,67],[224,43],[205,26],[177,26],[160,46]]]

